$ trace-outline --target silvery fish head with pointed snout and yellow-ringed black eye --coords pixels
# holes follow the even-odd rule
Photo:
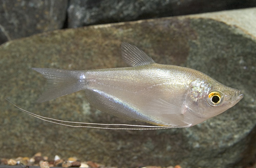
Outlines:
[[[237,104],[243,98],[243,94],[240,90],[227,87],[210,78],[191,82],[187,97],[189,109],[193,110],[197,117],[207,120]]]

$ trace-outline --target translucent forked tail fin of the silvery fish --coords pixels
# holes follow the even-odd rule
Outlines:
[[[85,71],[51,68],[32,68],[47,78],[48,89],[37,102],[44,102],[60,96],[86,89]]]

